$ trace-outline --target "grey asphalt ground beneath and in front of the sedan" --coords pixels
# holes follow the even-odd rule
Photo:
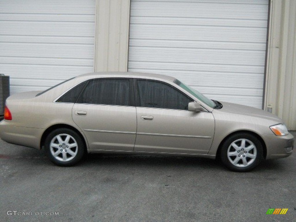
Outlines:
[[[58,167],[43,151],[0,140],[0,221],[296,221],[295,172],[295,151],[249,173],[147,155],[91,154]]]

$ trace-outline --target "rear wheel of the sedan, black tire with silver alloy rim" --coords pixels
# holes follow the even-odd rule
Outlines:
[[[67,128],[60,128],[46,137],[45,149],[52,163],[59,166],[72,166],[82,159],[85,146],[78,133]]]

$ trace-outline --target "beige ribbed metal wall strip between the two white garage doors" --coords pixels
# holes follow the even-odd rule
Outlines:
[[[97,0],[95,71],[127,71],[130,0]]]

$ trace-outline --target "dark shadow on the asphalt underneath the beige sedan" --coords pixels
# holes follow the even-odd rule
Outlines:
[[[32,159],[34,164],[37,165],[52,165],[44,149],[37,150],[28,147],[22,147],[18,145],[9,144],[9,147],[3,147],[0,153],[0,159],[17,159],[18,162],[31,163]],[[261,172],[285,172],[292,170],[287,164],[288,160],[284,159],[274,159],[274,160],[263,160],[254,170],[253,173]],[[83,157],[83,159],[73,167],[85,166],[88,168],[92,167],[102,167],[102,166],[124,166],[124,167],[149,167],[149,168],[194,168],[195,170],[208,170],[225,172],[229,171],[221,163],[220,160],[213,160],[203,157],[180,157],[180,156],[165,156],[165,155],[129,155],[129,154],[100,154],[100,153],[90,153]]]

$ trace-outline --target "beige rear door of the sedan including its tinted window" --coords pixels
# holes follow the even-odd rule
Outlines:
[[[90,149],[132,151],[136,139],[136,107],[132,80],[90,80],[74,104],[72,117],[85,133]]]

